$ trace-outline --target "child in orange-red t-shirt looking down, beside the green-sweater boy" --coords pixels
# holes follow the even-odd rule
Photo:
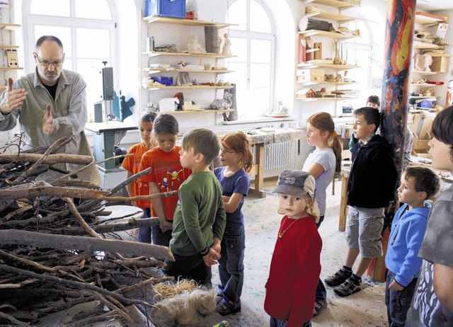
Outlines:
[[[173,115],[160,114],[154,120],[154,137],[157,147],[147,151],[142,156],[140,170],[151,167],[151,173],[140,180],[149,185],[149,194],[178,190],[179,186],[190,176],[192,171],[183,168],[180,163],[179,151],[176,145],[179,125]],[[169,246],[171,230],[173,229],[173,214],[178,204],[178,194],[171,197],[159,197],[151,200],[151,217],[159,217],[159,226],[151,226],[153,243]]]

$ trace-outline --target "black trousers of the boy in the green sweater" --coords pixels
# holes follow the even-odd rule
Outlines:
[[[195,280],[199,285],[204,285],[208,289],[212,288],[212,271],[211,267],[205,265],[200,253],[193,256],[178,256],[173,253],[174,261],[165,260],[166,267],[162,271],[176,279],[183,277],[185,279]]]

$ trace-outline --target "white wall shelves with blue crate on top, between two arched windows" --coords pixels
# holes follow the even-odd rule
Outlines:
[[[218,28],[219,31],[222,28],[229,27],[233,24],[228,23],[215,23],[211,21],[200,21],[200,20],[187,20],[178,18],[166,18],[158,16],[149,16],[143,18],[143,21],[147,23],[146,33],[143,33],[143,38],[154,36],[156,40],[159,40],[162,34],[165,32],[165,28],[171,28],[172,33],[178,35],[174,38],[176,42],[176,49],[178,52],[158,52],[158,51],[142,51],[142,80],[147,76],[171,76],[173,77],[173,85],[156,85],[147,84],[142,81],[142,108],[145,108],[147,103],[159,103],[161,98],[173,97],[175,93],[184,92],[185,100],[195,101],[200,104],[202,108],[207,110],[185,110],[175,111],[170,113],[219,113],[227,112],[229,110],[209,110],[208,104],[214,100],[214,98],[222,98],[222,94],[217,94],[219,90],[227,90],[232,86],[217,85],[218,76],[222,74],[231,73],[228,69],[184,69],[178,68],[178,62],[197,60],[198,65],[211,64],[212,67],[219,67],[219,59],[226,59],[231,56],[225,56],[219,53],[210,52],[184,52],[185,44],[183,40],[187,40],[190,35],[197,33],[197,36],[202,35],[205,26],[212,26]],[[201,29],[200,29],[201,28]],[[159,35],[160,34],[160,35]],[[144,40],[142,40],[144,41]],[[179,42],[178,42],[179,41]],[[173,41],[172,41],[173,42]],[[202,44],[202,41],[199,41]],[[167,43],[168,44],[168,43]],[[156,42],[156,46],[164,45]],[[144,47],[145,48],[145,47]],[[181,51],[182,50],[182,51]],[[162,64],[163,61],[166,64],[170,64],[171,67],[152,67],[151,64]],[[197,85],[181,85],[176,86],[176,79],[180,76],[180,73],[190,74],[190,81],[193,79],[197,80]],[[226,82],[226,81],[224,81]],[[202,84],[212,84],[202,85]],[[206,93],[208,92],[208,93]],[[187,94],[186,94],[187,93]],[[209,99],[209,101],[207,101]],[[204,105],[202,101],[205,101]]]

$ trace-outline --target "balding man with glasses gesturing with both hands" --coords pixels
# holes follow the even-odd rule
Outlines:
[[[19,125],[25,148],[49,147],[57,139],[72,136],[71,142],[59,150],[67,154],[91,156],[84,132],[87,121],[86,83],[74,71],[62,69],[62,42],[52,35],[38,39],[33,52],[36,67],[33,73],[22,76],[0,96],[0,130]],[[64,171],[80,166],[57,164]],[[45,179],[55,178],[48,173]],[[98,185],[101,183],[96,166],[81,171],[78,177]]]

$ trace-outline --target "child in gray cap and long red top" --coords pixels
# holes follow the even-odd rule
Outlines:
[[[265,285],[264,309],[270,326],[311,326],[314,296],[321,273],[322,241],[316,222],[315,179],[305,171],[288,170],[278,176],[280,222]]]

